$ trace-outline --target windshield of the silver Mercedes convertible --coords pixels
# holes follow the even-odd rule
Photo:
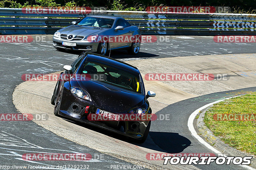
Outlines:
[[[111,28],[113,23],[114,23],[114,19],[85,17],[84,19],[76,23],[76,25],[92,26],[92,27],[100,27],[100,28]]]

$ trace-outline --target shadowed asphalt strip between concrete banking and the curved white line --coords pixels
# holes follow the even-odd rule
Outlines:
[[[256,92],[256,87],[212,93],[170,104],[157,114],[170,115],[171,121],[156,120],[149,132],[154,143],[167,153],[213,153],[205,148],[188,130],[190,114],[208,104],[224,98],[239,96],[249,92]],[[150,128],[151,129],[151,128]],[[175,138],[175,140],[170,140]],[[175,146],[175,147],[173,147]],[[217,155],[217,154],[216,154]],[[195,165],[199,169],[243,169],[236,165]]]

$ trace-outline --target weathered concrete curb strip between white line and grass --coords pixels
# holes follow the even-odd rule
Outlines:
[[[204,124],[204,114],[209,110],[213,105],[205,108],[203,111],[200,111],[199,118],[196,120],[196,132],[204,137],[204,139],[212,145],[218,151],[224,153],[227,156],[253,156],[251,159],[250,166],[256,168],[256,157],[255,155],[250,155],[246,152],[239,151],[228,144],[225,144],[219,137],[213,135],[212,131]]]

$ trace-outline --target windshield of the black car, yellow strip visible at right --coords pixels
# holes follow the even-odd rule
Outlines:
[[[80,73],[90,74],[94,81],[141,93],[140,77],[137,73],[130,73],[95,61],[87,61]]]

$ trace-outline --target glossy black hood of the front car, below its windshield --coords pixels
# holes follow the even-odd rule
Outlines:
[[[76,82],[81,89],[90,94],[92,102],[96,106],[112,113],[127,113],[133,107],[140,107],[146,100],[143,94],[129,90],[120,90],[119,88],[102,85],[95,81]]]

